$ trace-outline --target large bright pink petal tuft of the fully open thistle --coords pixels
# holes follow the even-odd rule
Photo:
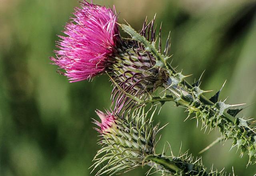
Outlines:
[[[110,67],[110,56],[116,52],[119,37],[118,18],[104,6],[82,3],[75,8],[74,18],[65,26],[64,34],[56,42],[56,65],[64,69],[70,82],[87,80]]]

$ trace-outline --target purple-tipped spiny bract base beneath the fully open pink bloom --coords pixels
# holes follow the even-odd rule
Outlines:
[[[140,35],[156,42],[155,19],[147,23],[145,20]],[[161,31],[161,29],[160,29]],[[168,41],[167,41],[168,43]],[[165,53],[168,53],[169,44]],[[161,44],[158,50],[161,49]],[[115,101],[116,112],[134,106],[131,97],[146,100],[155,90],[163,86],[168,80],[168,72],[159,67],[156,57],[136,40],[122,40],[118,54],[115,55],[116,63],[113,64],[113,73],[109,74],[114,83],[112,102]]]

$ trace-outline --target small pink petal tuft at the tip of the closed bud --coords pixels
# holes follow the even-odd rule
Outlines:
[[[100,133],[109,132],[110,128],[116,126],[115,120],[116,116],[113,115],[113,113],[110,113],[109,111],[106,112],[106,114],[100,110],[95,111],[96,114],[99,116],[101,123],[95,120],[95,124],[100,127],[100,129],[96,129]]]

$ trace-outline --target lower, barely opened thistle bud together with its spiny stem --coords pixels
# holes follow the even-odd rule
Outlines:
[[[152,109],[152,108],[151,108]],[[100,149],[94,157],[95,163],[92,165],[93,170],[97,167],[102,167],[96,173],[101,174],[116,174],[127,172],[138,166],[150,166],[148,174],[154,172],[162,175],[182,175],[182,176],[222,176],[226,173],[210,171],[202,164],[201,158],[193,159],[192,155],[185,152],[178,156],[166,156],[167,148],[162,154],[156,154],[156,135],[163,128],[159,128],[159,124],[153,126],[153,116],[155,110],[145,112],[145,106],[137,108],[132,114],[128,112],[125,116],[119,117],[117,114],[105,113],[97,110],[96,113],[101,119],[101,122],[94,120],[100,129],[102,138]],[[150,112],[151,111],[151,112]],[[148,118],[150,116],[150,118]],[[160,139],[160,138],[159,138]],[[169,143],[168,143],[169,144]],[[170,145],[170,144],[169,144]],[[105,166],[103,165],[105,164]]]

